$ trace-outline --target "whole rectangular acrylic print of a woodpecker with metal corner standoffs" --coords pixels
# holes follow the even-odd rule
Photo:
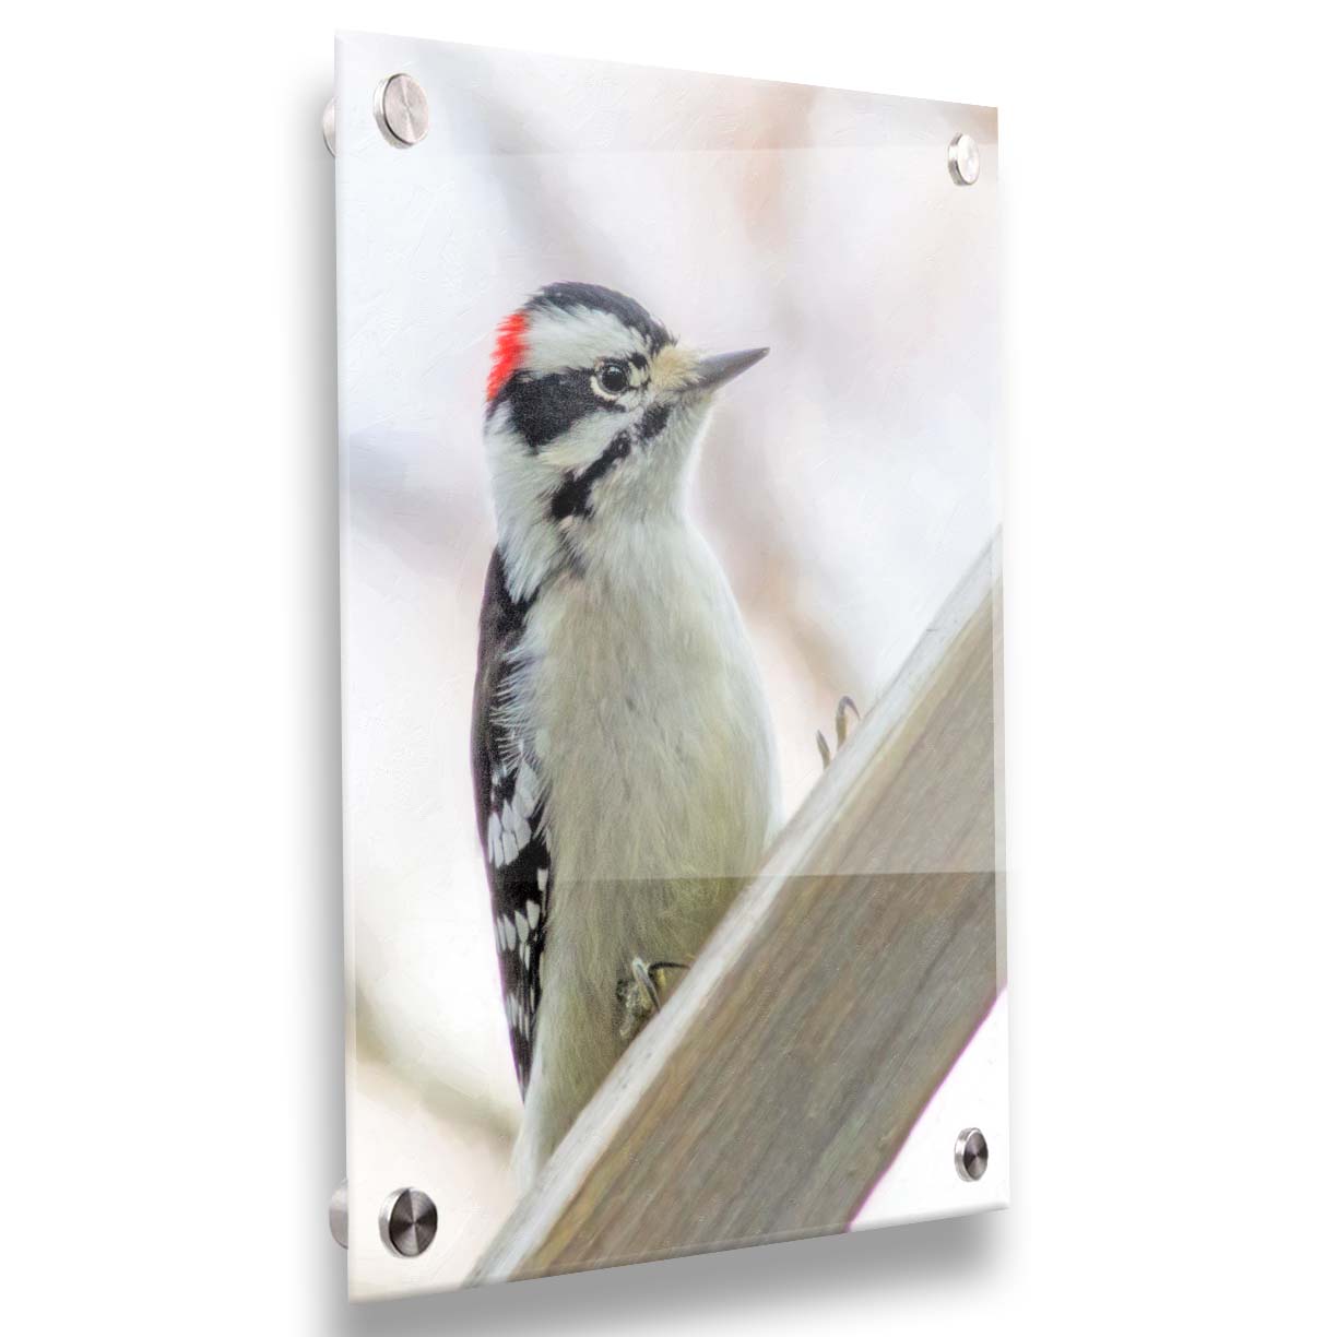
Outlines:
[[[995,112],[344,35],[334,140],[350,1294],[1005,1203]]]

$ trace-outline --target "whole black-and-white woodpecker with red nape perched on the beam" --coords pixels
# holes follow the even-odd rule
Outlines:
[[[761,671],[687,515],[711,402],[767,352],[703,354],[584,282],[550,283],[497,326],[471,751],[521,1186],[778,825]]]

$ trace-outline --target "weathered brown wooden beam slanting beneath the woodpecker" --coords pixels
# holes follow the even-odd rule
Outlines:
[[[1000,987],[992,548],[471,1282],[844,1230]]]

